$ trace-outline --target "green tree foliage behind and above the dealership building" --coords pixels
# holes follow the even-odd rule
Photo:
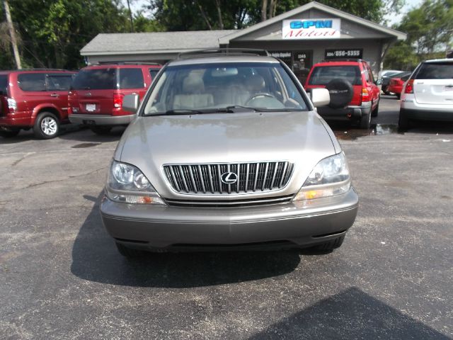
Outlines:
[[[81,48],[98,33],[121,33],[132,30],[150,32],[241,29],[309,2],[309,0],[147,0],[143,1],[143,8],[137,11],[137,0],[126,1],[9,0],[13,22],[16,23],[18,35],[21,37],[23,64],[25,67],[76,69],[84,64],[80,56]],[[398,11],[404,2],[404,0],[318,1],[376,22],[382,22],[384,15],[389,11]],[[453,0],[426,1],[450,4]],[[129,11],[128,5],[134,13]],[[3,18],[3,8],[1,14]],[[445,16],[438,8],[432,9],[432,15],[442,18]],[[406,27],[408,30],[412,29],[409,22]],[[414,28],[414,32],[416,31]],[[418,38],[416,33],[414,36]],[[440,36],[442,38],[436,35],[423,43],[411,42],[411,44],[424,50],[432,49],[434,47],[429,47],[428,42],[435,42],[435,46],[447,43],[445,37]],[[8,48],[5,41],[0,44],[0,48],[1,46],[4,52],[0,56],[0,68],[9,68],[13,66],[11,47]]]

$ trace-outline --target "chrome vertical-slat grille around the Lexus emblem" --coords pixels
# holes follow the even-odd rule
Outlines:
[[[213,195],[276,191],[287,185],[293,169],[294,164],[289,162],[164,165],[173,190]],[[226,172],[237,175],[236,183],[222,182],[222,174]]]

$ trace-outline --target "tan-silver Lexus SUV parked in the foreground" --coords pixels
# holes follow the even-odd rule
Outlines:
[[[343,243],[358,196],[316,113],[326,89],[310,100],[267,52],[215,50],[166,64],[138,102],[124,98],[137,118],[117,145],[101,204],[122,255]]]

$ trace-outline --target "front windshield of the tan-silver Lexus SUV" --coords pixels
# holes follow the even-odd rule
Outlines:
[[[302,94],[277,62],[167,67],[144,115],[248,111],[306,111]],[[184,112],[185,111],[185,112]]]

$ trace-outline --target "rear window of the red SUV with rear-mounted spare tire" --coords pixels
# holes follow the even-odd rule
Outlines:
[[[332,79],[346,79],[352,85],[361,85],[362,77],[358,66],[319,66],[313,69],[309,85],[327,85]]]

